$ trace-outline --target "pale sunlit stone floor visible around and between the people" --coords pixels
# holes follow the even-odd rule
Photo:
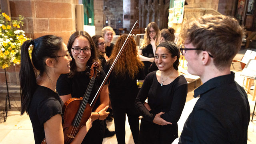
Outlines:
[[[240,50],[234,59],[241,59],[246,50]],[[235,80],[242,86],[244,78],[240,76],[242,68],[239,62],[234,62],[234,68],[231,66],[236,74]],[[197,81],[197,85],[200,85],[200,80]],[[194,104],[196,103],[197,98],[194,98],[194,83],[189,84],[188,96],[182,116],[178,122],[178,133],[180,135],[184,122],[190,114]],[[250,103],[251,113],[253,112],[255,101],[252,101],[251,94],[248,94],[248,100]],[[252,116],[252,115],[251,115]],[[251,118],[252,119],[252,118]],[[256,116],[254,116],[255,121],[250,121],[248,127],[248,144],[256,143]],[[112,122],[107,122],[108,128],[110,131],[114,131],[114,120]],[[128,119],[126,117],[126,143],[134,144],[132,134],[130,132],[130,126],[128,124]],[[0,144],[34,144],[34,136],[32,125],[28,115],[24,114],[20,116],[20,112],[12,105],[11,111],[8,111],[8,117],[6,122],[4,122],[4,115],[0,112]],[[116,136],[109,138],[104,138],[103,144],[117,144]],[[177,140],[173,142],[177,144]]]

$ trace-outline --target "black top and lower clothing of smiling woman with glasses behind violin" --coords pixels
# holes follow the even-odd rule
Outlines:
[[[58,78],[56,89],[60,96],[71,94],[73,98],[80,98],[84,96],[86,88],[89,85],[90,78],[88,73],[90,70],[77,72],[72,78],[68,78],[68,74],[61,74]],[[91,104],[96,92],[102,84],[106,74],[100,70],[100,76],[96,77],[95,84],[92,88],[88,104]],[[92,112],[100,105],[100,98],[96,101]],[[94,120],[92,128],[86,134],[82,144],[102,144],[104,136],[104,122],[102,120]]]

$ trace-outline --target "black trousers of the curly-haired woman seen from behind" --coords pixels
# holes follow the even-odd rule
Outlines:
[[[125,144],[125,120],[128,116],[128,122],[132,131],[132,137],[135,144],[139,140],[139,114],[135,107],[123,108],[112,104],[114,114],[115,132],[118,144]]]

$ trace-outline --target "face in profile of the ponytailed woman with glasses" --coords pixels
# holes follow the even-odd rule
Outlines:
[[[62,49],[57,53],[58,57],[58,63],[56,64],[56,70],[60,72],[60,74],[67,74],[70,72],[70,62],[72,61],[72,58],[70,54],[68,53],[68,48],[62,42]]]

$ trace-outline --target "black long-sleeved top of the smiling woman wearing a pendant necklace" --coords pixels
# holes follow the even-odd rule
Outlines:
[[[152,122],[155,115],[165,112],[161,117],[172,124],[176,124],[186,102],[188,83],[183,75],[178,76],[168,85],[163,85],[156,78],[156,71],[150,72],[135,100],[135,107],[142,116]],[[150,112],[144,106],[148,98],[148,104],[152,109]]]

